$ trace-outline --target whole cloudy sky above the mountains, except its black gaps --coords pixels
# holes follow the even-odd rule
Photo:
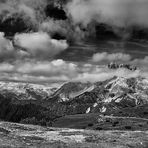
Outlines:
[[[64,5],[67,20],[46,16],[47,5],[46,0],[0,2],[0,80],[61,84],[103,81],[115,75],[148,77],[146,41],[83,40],[90,30],[93,33],[93,28],[88,28],[93,22],[124,28],[148,27],[148,0],[72,0]],[[7,35],[12,26],[4,29],[1,24],[10,18],[21,18],[24,31]],[[57,32],[65,39],[54,39]],[[139,68],[111,70],[106,66],[110,62]]]

